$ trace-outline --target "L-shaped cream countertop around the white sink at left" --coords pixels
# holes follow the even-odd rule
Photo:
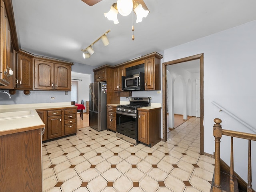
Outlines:
[[[38,128],[44,128],[44,123],[38,116],[36,110],[51,108],[76,107],[70,102],[62,103],[39,103],[39,104],[16,104],[0,105],[0,113],[31,110],[34,116],[0,120],[0,136]]]

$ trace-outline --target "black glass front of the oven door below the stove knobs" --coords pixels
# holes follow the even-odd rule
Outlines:
[[[133,139],[138,138],[138,122],[136,117],[116,114],[116,132]]]

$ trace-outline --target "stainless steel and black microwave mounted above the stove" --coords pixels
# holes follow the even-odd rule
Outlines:
[[[122,90],[145,90],[144,73],[122,76]]]

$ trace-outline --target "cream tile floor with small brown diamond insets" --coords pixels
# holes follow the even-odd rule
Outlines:
[[[43,144],[44,192],[210,192],[214,159],[199,154],[199,132],[191,118],[149,148],[80,128]]]

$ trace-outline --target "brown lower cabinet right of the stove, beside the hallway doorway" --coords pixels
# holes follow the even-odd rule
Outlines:
[[[161,108],[138,108],[138,140],[150,147],[161,141]]]

